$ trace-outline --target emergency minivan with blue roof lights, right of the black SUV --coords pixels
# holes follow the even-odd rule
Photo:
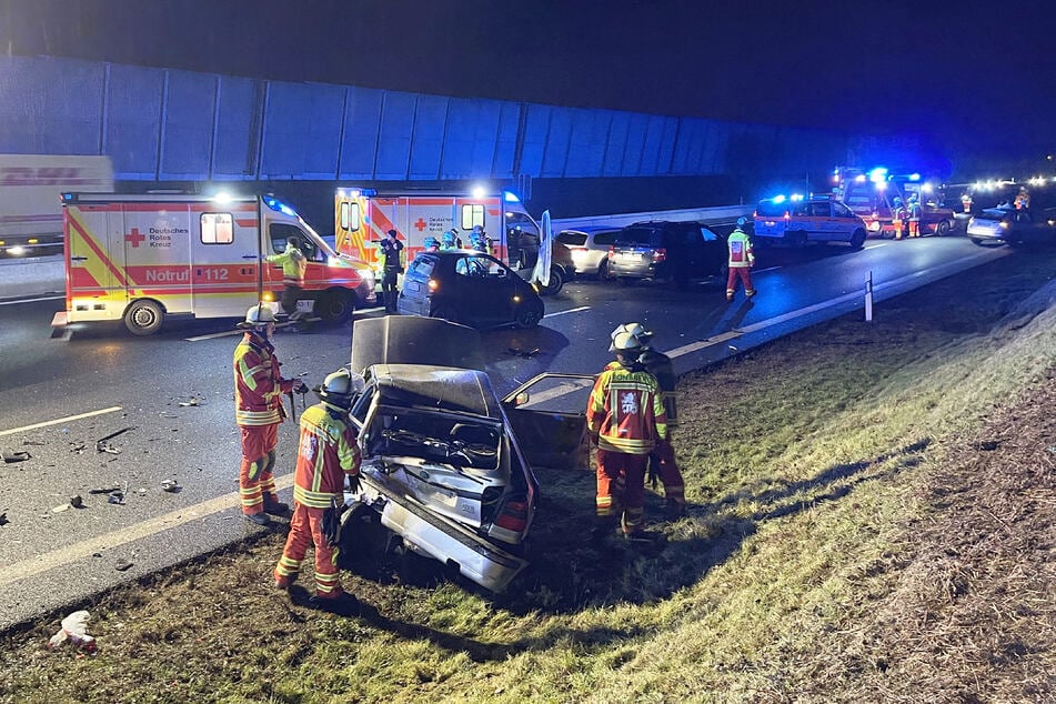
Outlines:
[[[846,242],[862,249],[865,222],[828,195],[778,195],[762,200],[754,214],[754,241],[805,247],[809,242]]]

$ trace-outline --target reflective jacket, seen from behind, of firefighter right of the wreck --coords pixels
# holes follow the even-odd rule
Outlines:
[[[667,415],[656,378],[641,364],[614,362],[594,381],[586,406],[586,426],[599,450],[648,454],[667,439]]]

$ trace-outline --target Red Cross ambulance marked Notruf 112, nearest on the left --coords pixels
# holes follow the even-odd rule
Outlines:
[[[370,266],[338,254],[271,195],[63,193],[66,310],[52,326],[123,321],[137,335],[168,318],[234,318],[276,301],[282,268],[265,261],[296,235],[308,259],[298,310],[325,321],[373,306]]]

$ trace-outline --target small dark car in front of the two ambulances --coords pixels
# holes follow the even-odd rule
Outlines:
[[[531,283],[494,257],[472,250],[415,257],[403,275],[396,310],[474,328],[534,328],[543,319],[543,301]]]

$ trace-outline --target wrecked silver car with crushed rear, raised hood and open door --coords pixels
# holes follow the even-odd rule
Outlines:
[[[479,332],[440,319],[354,323],[350,366],[365,388],[351,415],[363,461],[342,515],[346,561],[408,551],[492,592],[527,566],[533,466],[587,466],[593,378],[542,374],[500,399],[480,350]]]

